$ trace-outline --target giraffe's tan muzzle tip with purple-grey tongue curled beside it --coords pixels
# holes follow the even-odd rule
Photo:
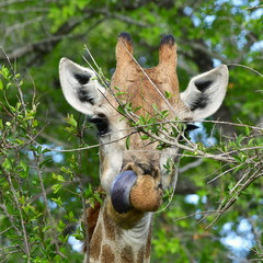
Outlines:
[[[119,173],[111,187],[111,199],[114,209],[119,214],[130,209],[155,211],[162,203],[162,185],[160,174],[136,173],[125,170]]]

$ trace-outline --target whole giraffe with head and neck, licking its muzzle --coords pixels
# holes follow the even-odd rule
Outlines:
[[[111,88],[102,87],[95,72],[68,58],[59,62],[64,95],[77,111],[96,125],[100,146],[100,182],[105,198],[89,210],[90,249],[84,262],[150,262],[152,215],[162,203],[163,191],[175,187],[178,168],[165,170],[168,160],[179,162],[179,149],[157,150],[157,141],[141,140],[141,129],[130,126],[118,111],[114,91],[137,108],[132,116],[157,116],[194,122],[214,114],[222,103],[228,68],[221,65],[191,79],[179,91],[176,45],[165,35],[159,46],[159,64],[142,69],[133,58],[133,41],[121,33],[116,44],[116,69]],[[171,94],[169,99],[164,94]],[[153,106],[157,105],[157,106]],[[156,110],[158,107],[158,110]],[[158,112],[158,113],[157,113]],[[129,147],[125,138],[129,137]]]

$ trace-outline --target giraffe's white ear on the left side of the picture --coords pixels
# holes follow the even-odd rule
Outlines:
[[[61,58],[59,79],[68,103],[81,113],[93,115],[94,106],[102,101],[105,93],[105,89],[96,80],[95,72],[68,58]]]

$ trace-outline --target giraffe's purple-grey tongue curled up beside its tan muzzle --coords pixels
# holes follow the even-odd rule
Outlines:
[[[137,174],[132,170],[126,170],[119,173],[111,187],[111,198],[114,209],[124,214],[133,207],[129,202],[129,193],[137,181]]]

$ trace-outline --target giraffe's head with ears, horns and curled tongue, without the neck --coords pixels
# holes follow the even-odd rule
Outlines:
[[[157,210],[163,190],[176,182],[176,167],[172,165],[169,172],[164,167],[168,160],[178,161],[178,149],[157,150],[158,141],[142,140],[144,127],[130,127],[130,123],[144,118],[202,119],[218,110],[226,94],[225,65],[194,77],[180,94],[176,60],[175,41],[167,35],[160,43],[158,66],[142,69],[133,58],[130,36],[122,33],[110,89],[99,83],[90,68],[67,58],[60,60],[59,77],[66,100],[96,125],[101,141],[100,180],[106,192],[108,215],[124,228],[132,228],[145,213]],[[135,110],[128,113],[129,121],[119,112],[119,103]],[[165,133],[171,134],[169,127]],[[164,136],[161,130],[156,135]]]

